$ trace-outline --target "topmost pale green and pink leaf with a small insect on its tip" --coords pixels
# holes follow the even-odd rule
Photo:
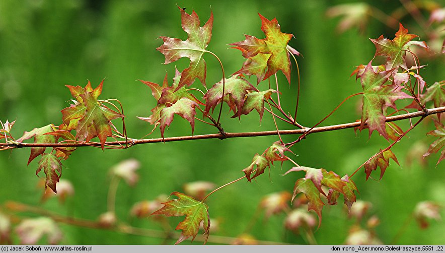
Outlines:
[[[178,8],[181,11],[182,29],[188,35],[187,40],[182,41],[161,36],[164,44],[156,49],[165,55],[164,64],[169,64],[182,57],[190,59],[190,66],[182,72],[177,89],[184,85],[191,85],[196,78],[205,85],[206,64],[203,55],[211,38],[213,13],[210,13],[210,18],[205,25],[200,27],[199,17],[195,11],[189,15],[179,6]]]

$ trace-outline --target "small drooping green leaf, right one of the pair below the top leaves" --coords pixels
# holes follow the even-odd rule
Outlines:
[[[268,89],[266,91],[251,92],[244,96],[244,104],[241,110],[233,115],[232,117],[241,117],[243,114],[249,114],[253,109],[257,110],[260,114],[260,122],[263,118],[264,113],[264,99],[269,99],[272,92],[277,92],[276,90]]]

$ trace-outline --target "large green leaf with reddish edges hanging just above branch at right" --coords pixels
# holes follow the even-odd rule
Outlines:
[[[369,138],[373,131],[377,130],[388,140],[385,130],[386,108],[391,106],[396,109],[394,102],[397,99],[411,98],[411,96],[401,91],[402,87],[384,85],[392,72],[393,70],[376,73],[371,66],[371,61],[369,61],[360,77],[363,87],[363,106],[359,130],[363,130],[366,123],[369,129]]]

